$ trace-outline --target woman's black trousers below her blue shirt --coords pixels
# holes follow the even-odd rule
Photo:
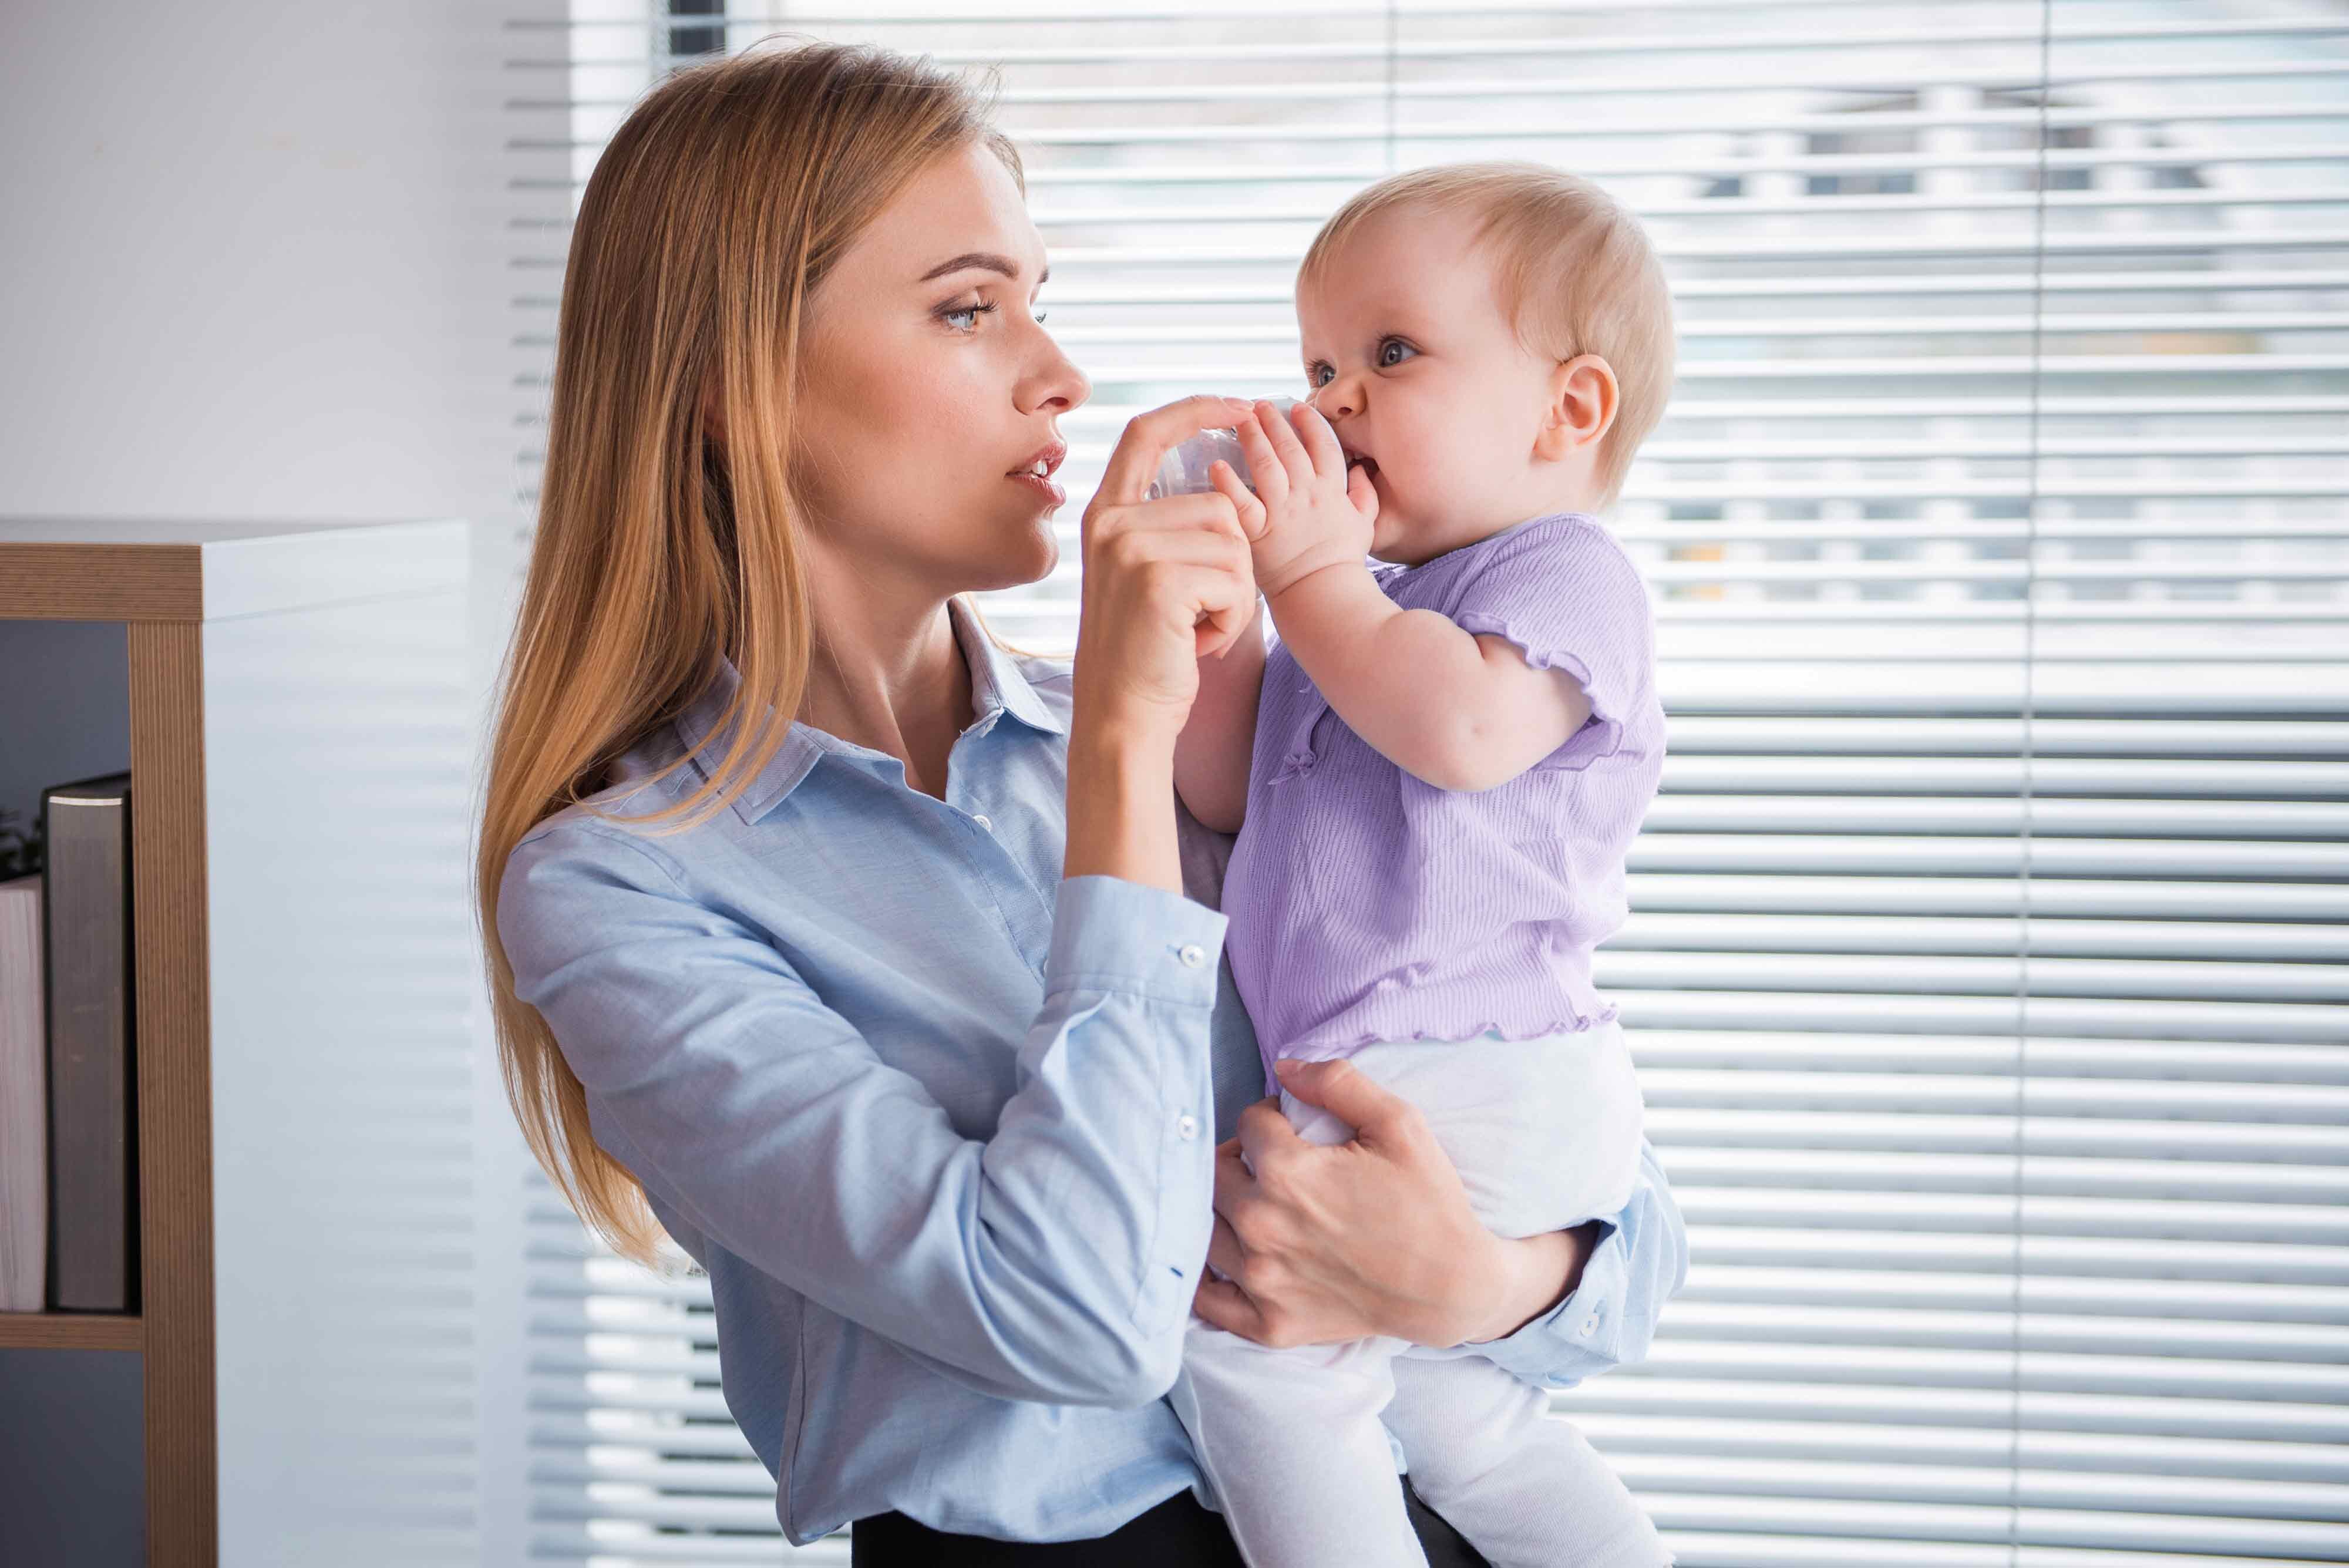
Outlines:
[[[1428,1568],[1492,1568],[1468,1540],[1419,1500],[1402,1476],[1402,1507],[1412,1514]],[[1243,1568],[1224,1516],[1182,1488],[1092,1540],[1019,1542],[989,1535],[947,1535],[890,1509],[848,1526],[853,1568]]]

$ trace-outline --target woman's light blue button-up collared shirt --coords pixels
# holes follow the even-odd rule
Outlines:
[[[707,1272],[726,1404],[794,1545],[902,1509],[1106,1535],[1193,1486],[1163,1399],[1214,1143],[1266,1094],[1179,803],[1191,897],[1062,878],[1071,674],[949,601],[977,716],[947,798],[806,723],[733,807],[655,838],[740,683],[658,725],[505,864],[498,934],[597,1143]],[[1654,1150],[1579,1289],[1478,1352],[1564,1387],[1647,1352],[1687,1242]],[[1459,1350],[1456,1354],[1468,1354]]]

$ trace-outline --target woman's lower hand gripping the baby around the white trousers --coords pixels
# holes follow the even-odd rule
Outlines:
[[[1207,1263],[1226,1279],[1193,1296],[1217,1329],[1273,1347],[1374,1333],[1459,1345],[1539,1314],[1562,1263],[1581,1272],[1588,1239],[1560,1251],[1485,1230],[1419,1108],[1351,1061],[1297,1063],[1283,1082],[1355,1136],[1306,1143],[1278,1099],[1240,1113],[1240,1136],[1214,1150]]]

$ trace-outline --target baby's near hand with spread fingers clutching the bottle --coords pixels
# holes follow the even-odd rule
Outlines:
[[[1287,418],[1259,401],[1254,418],[1238,423],[1240,451],[1257,491],[1217,460],[1214,488],[1231,498],[1247,533],[1257,587],[1278,599],[1299,577],[1334,563],[1360,563],[1369,554],[1379,493],[1360,469],[1346,472],[1346,451],[1313,404],[1297,404]]]

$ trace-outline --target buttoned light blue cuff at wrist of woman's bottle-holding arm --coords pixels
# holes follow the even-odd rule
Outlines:
[[[1214,1007],[1229,925],[1221,911],[1165,887],[1120,876],[1062,878],[1043,993],[1123,991]]]

